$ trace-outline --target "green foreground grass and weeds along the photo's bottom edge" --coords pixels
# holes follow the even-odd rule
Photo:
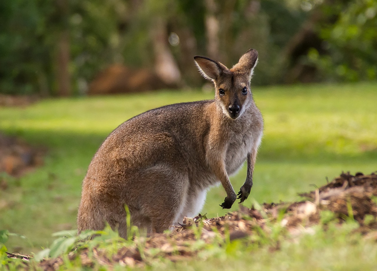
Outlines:
[[[194,254],[195,256],[178,262],[170,260],[169,256],[180,254],[178,250],[174,251],[175,243],[170,239],[167,239],[165,244],[172,242],[173,252],[166,253],[166,248],[147,248],[143,241],[138,239],[136,241],[120,239],[116,233],[106,228],[100,236],[90,241],[76,241],[77,244],[80,244],[80,247],[74,251],[74,254],[84,257],[76,256],[69,260],[67,253],[63,253],[61,255],[63,261],[59,264],[59,270],[124,270],[125,267],[116,260],[117,256],[115,256],[115,259],[113,258],[113,255],[117,255],[117,252],[124,247],[127,249],[123,250],[123,253],[118,253],[121,259],[124,255],[132,255],[124,254],[124,251],[134,251],[135,248],[138,248],[142,255],[142,261],[147,264],[147,268],[136,266],[135,268],[128,267],[127,270],[205,269],[215,271],[219,269],[251,269],[256,271],[302,271],[375,270],[377,268],[375,238],[365,238],[360,233],[355,232],[359,224],[352,219],[347,219],[341,225],[335,221],[325,222],[323,220],[320,221],[320,224],[307,228],[306,233],[302,231],[296,235],[287,234],[286,229],[279,226],[279,222],[267,222],[265,230],[259,229],[261,232],[264,231],[264,234],[251,234],[246,239],[228,241],[227,238],[214,238],[211,242],[208,242],[208,239],[206,242],[202,239],[190,241],[190,247],[185,246],[185,251],[187,251],[186,254]],[[326,225],[326,230],[323,230],[324,225]],[[199,228],[200,226],[197,230],[200,231]],[[302,229],[304,228],[302,227]],[[254,228],[254,230],[257,229]],[[71,236],[70,233],[64,235]],[[198,238],[200,236],[201,234],[198,235]],[[60,238],[57,241],[70,242],[72,238],[75,239],[76,237]],[[66,251],[63,247],[61,245],[55,246],[55,253],[56,249]],[[53,249],[54,245],[52,246]],[[96,253],[93,253],[94,249]],[[179,249],[182,251],[182,246]],[[83,259],[87,259],[86,263]],[[90,268],[88,267],[89,263],[91,263]],[[107,265],[111,265],[111,267]],[[8,265],[9,270],[21,270],[22,266],[22,261],[17,259],[11,260]],[[29,269],[40,270],[41,268],[37,262],[32,260],[29,263]]]

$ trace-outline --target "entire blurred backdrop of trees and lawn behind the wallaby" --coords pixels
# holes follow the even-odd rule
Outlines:
[[[231,67],[250,48],[265,129],[245,206],[377,170],[376,0],[1,0],[0,230],[27,237],[8,250],[77,228],[87,167],[120,123],[213,98],[193,56]],[[211,189],[202,213],[224,215],[224,197]]]

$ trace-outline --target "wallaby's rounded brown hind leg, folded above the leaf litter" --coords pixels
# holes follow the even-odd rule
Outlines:
[[[176,167],[158,164],[138,172],[133,176],[135,180],[132,186],[128,185],[128,181],[124,182],[124,187],[120,190],[125,191],[125,194],[119,195],[118,200],[100,200],[104,220],[114,230],[118,230],[122,238],[127,238],[127,205],[130,222],[137,226],[141,233],[162,233],[169,229],[182,212],[186,201],[189,180],[182,172],[183,169],[177,171]],[[139,187],[144,184],[149,186]],[[143,190],[144,193],[134,193],[133,189]]]

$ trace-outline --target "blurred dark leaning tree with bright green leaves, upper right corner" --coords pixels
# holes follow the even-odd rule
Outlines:
[[[286,82],[377,79],[377,2],[305,1],[307,21],[288,43]]]

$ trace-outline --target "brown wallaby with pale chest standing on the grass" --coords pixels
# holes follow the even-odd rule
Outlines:
[[[229,209],[253,186],[263,132],[262,114],[250,90],[258,53],[248,50],[231,69],[195,56],[202,76],[213,81],[215,99],[166,105],[122,123],[102,143],[83,180],[78,231],[105,223],[127,235],[125,206],[133,225],[148,233],[196,216],[209,187],[221,182]],[[247,159],[238,195],[228,175]]]

